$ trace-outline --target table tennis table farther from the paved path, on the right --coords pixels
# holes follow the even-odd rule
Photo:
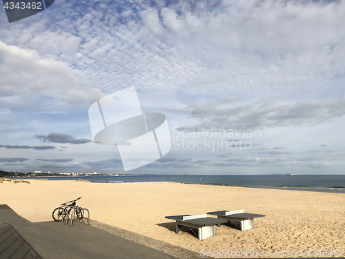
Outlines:
[[[237,229],[244,231],[254,228],[254,218],[262,218],[265,215],[244,213],[243,210],[239,211],[213,211],[208,212],[210,215],[216,215],[221,220],[227,220],[230,224],[233,223]]]

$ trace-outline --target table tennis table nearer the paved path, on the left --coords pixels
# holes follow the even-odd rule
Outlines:
[[[208,218],[206,214],[202,215],[173,215],[166,216],[169,220],[176,220],[176,233],[182,231],[185,227],[188,227],[199,240],[210,238],[215,236],[215,225],[220,227],[221,224],[227,222],[227,220],[221,220],[219,218]],[[197,233],[193,231],[197,229]]]

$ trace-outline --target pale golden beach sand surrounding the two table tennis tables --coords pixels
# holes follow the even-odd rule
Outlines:
[[[300,253],[302,250],[303,256],[308,257],[306,253],[309,249],[316,250],[310,250],[311,253],[319,253],[321,249],[321,257],[334,257],[333,254],[325,256],[325,252],[337,249],[340,256],[339,250],[345,249],[345,194],[341,193],[172,182],[29,182],[0,184],[0,204],[8,204],[31,222],[52,220],[52,211],[61,202],[81,196],[78,204],[90,210],[92,220],[201,255],[217,258],[257,257],[253,254],[255,251],[258,257],[270,257],[267,252],[271,257],[298,257],[295,251]],[[175,234],[175,222],[164,218],[166,215],[197,215],[208,211],[239,209],[266,217],[255,219],[255,228],[248,231],[225,225],[216,227],[216,236],[205,240],[198,240],[188,232]],[[235,255],[235,252],[247,249],[247,254]],[[279,251],[280,256],[277,254]],[[289,251],[292,254],[288,254]],[[277,256],[274,256],[275,252]]]

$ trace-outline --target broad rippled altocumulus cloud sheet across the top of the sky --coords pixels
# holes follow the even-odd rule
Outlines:
[[[122,1],[87,7],[72,12],[61,5],[66,17],[51,27],[45,22],[46,31],[32,23],[25,29],[30,39],[17,44],[75,64],[106,93],[136,86],[165,108],[183,107],[177,90],[320,96],[337,87],[333,78],[343,71],[343,1],[179,1],[168,7]],[[22,27],[12,34],[21,35]]]

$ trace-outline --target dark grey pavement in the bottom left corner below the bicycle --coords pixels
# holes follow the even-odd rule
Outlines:
[[[32,223],[7,205],[0,205],[0,222],[10,224],[0,224],[0,259],[175,258],[81,222]]]

